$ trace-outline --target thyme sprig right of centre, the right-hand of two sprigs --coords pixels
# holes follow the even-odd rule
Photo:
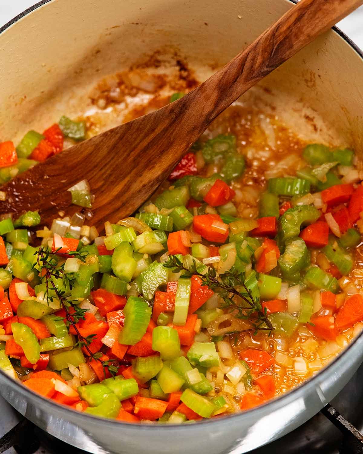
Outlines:
[[[230,271],[217,277],[216,270],[210,268],[205,274],[198,271],[196,261],[193,260],[193,264],[186,268],[183,265],[179,257],[172,255],[168,261],[163,264],[166,268],[172,269],[174,273],[179,271],[185,271],[186,273],[182,277],[190,277],[193,275],[200,276],[203,285],[208,286],[211,290],[221,289],[219,295],[224,301],[224,307],[231,309],[231,311],[237,311],[235,316],[237,318],[243,318],[249,320],[253,324],[253,328],[241,331],[233,331],[228,334],[240,334],[244,332],[257,332],[257,331],[273,331],[270,320],[266,315],[266,311],[262,309],[260,302],[255,300],[252,296],[250,289],[245,285],[242,279],[242,275],[238,273],[235,268],[231,268]],[[244,291],[240,291],[237,288],[242,287]],[[241,306],[238,302],[234,301],[235,296],[239,296],[245,305]],[[255,319],[251,319],[252,314],[257,315]]]

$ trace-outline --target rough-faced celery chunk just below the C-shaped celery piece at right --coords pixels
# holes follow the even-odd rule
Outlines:
[[[310,263],[310,253],[304,240],[299,237],[286,240],[285,252],[278,262],[286,280],[290,280],[298,271],[306,268]]]

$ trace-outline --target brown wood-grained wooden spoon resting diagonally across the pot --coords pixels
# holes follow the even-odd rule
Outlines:
[[[92,222],[130,215],[167,178],[208,125],[241,94],[363,0],[301,0],[210,79],[151,114],[68,148],[6,183],[0,213],[39,210],[49,224],[72,211],[67,189],[86,178],[95,195]],[[76,211],[79,207],[74,207]]]

